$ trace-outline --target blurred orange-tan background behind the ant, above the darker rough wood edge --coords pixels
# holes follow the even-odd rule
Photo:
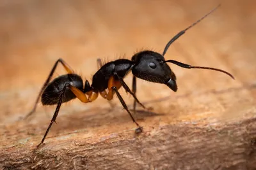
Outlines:
[[[216,122],[214,118],[224,113],[232,113],[232,117],[255,113],[252,112],[256,98],[254,1],[1,0],[0,124],[4,134],[12,134],[9,127],[16,126],[17,120],[31,110],[57,59],[64,59],[84,80],[92,82],[97,58],[131,59],[142,49],[162,53],[177,32],[219,3],[218,10],[173,43],[166,59],[225,69],[236,81],[222,73],[177,66],[171,66],[177,76],[177,93],[165,85],[139,80],[138,98],[154,108],[154,112],[165,114],[164,118],[145,118],[142,124],[148,122],[150,126],[199,121],[205,114],[207,121],[212,118],[209,122]],[[60,74],[65,74],[62,67],[58,67],[55,76]],[[131,85],[131,79],[129,74],[125,81]],[[131,108],[132,97],[124,90],[122,94]],[[134,127],[120,103],[116,99],[113,103],[117,108],[111,112],[108,102],[101,97],[90,104],[78,100],[64,104],[57,119],[63,125],[58,124],[58,128],[70,131],[79,129],[79,124],[83,128],[92,124],[104,129],[104,125],[111,124],[104,120],[106,117],[120,126],[125,119],[123,123],[129,125],[121,129]],[[39,104],[33,118],[16,128],[42,135],[54,109]],[[70,125],[70,118],[74,125]],[[90,122],[84,125],[83,121]],[[42,124],[38,125],[39,122]],[[35,125],[34,130],[24,128],[31,125]]]

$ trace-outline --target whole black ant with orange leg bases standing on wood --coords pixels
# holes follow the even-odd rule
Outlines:
[[[219,5],[220,6],[220,5]],[[204,15],[204,17],[200,18],[200,20],[196,21],[186,29],[180,31],[177,35],[175,35],[165,46],[163,54],[145,50],[142,52],[138,52],[133,55],[131,60],[128,59],[118,59],[106,64],[102,64],[100,59],[97,60],[98,66],[100,69],[93,75],[92,78],[92,85],[90,85],[89,81],[86,80],[83,85],[83,80],[81,76],[74,73],[70,66],[63,60],[58,59],[54,66],[52,67],[51,73],[49,74],[47,80],[45,81],[38,97],[36,98],[35,105],[33,110],[31,110],[26,118],[29,117],[32,113],[35,112],[37,103],[41,97],[41,101],[43,105],[54,105],[57,104],[56,110],[52,117],[51,123],[47,128],[47,131],[44,134],[44,138],[42,139],[41,143],[38,145],[40,146],[44,143],[44,140],[51,129],[52,124],[56,121],[58,113],[60,111],[60,107],[62,103],[66,103],[76,97],[83,103],[90,103],[95,101],[97,97],[102,96],[104,99],[110,101],[113,99],[114,94],[118,97],[120,103],[124,107],[124,109],[129,113],[132,121],[138,126],[136,129],[136,133],[140,133],[143,131],[142,127],[134,120],[132,117],[131,112],[127,108],[124,99],[118,92],[120,87],[124,87],[124,89],[129,92],[129,94],[134,97],[134,111],[136,110],[136,103],[140,104],[143,108],[145,106],[140,103],[140,101],[136,97],[136,77],[141,78],[143,80],[155,82],[155,83],[163,83],[167,85],[170,89],[174,92],[177,91],[177,83],[176,83],[176,76],[168,66],[167,62],[171,62],[176,64],[177,66],[184,67],[187,69],[197,68],[197,69],[212,69],[215,71],[220,71],[222,73],[228,74],[231,78],[234,79],[232,74],[228,73],[227,71],[223,71],[221,69],[216,69],[212,67],[199,67],[199,66],[190,66],[188,64],[184,64],[182,62],[178,62],[176,60],[164,60],[164,55],[167,52],[169,46],[182,34],[184,34],[188,29],[193,27],[194,25],[198,24],[201,20],[215,11],[219,6],[211,10],[209,13]],[[58,76],[54,80],[51,80],[52,74],[54,73],[58,64],[62,64],[62,66],[67,71],[67,74]],[[128,87],[125,83],[124,78],[129,73],[132,72],[133,79],[132,79],[132,90]],[[106,91],[108,89],[108,92]]]

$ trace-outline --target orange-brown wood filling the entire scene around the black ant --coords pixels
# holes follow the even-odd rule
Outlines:
[[[179,90],[138,81],[136,126],[117,99],[54,106],[36,96],[58,58],[91,81],[97,58],[131,59],[163,48],[216,1],[0,1],[0,167],[2,169],[256,169],[256,15],[252,1],[221,8],[173,43],[166,59],[225,69],[171,66]],[[58,67],[56,76],[65,73]],[[131,74],[125,81],[131,85]],[[132,108],[132,97],[122,90]]]

